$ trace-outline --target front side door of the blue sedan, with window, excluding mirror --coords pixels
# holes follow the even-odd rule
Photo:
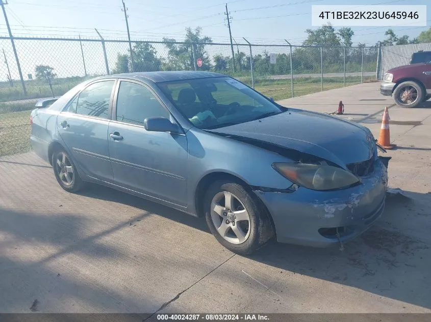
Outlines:
[[[121,81],[114,106],[108,131],[114,183],[186,206],[186,136],[148,132],[143,126],[151,116],[174,121],[164,104],[142,84]]]

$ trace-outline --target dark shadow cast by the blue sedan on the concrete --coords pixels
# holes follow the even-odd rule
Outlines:
[[[109,188],[85,195],[129,204],[208,233],[197,219]],[[406,196],[407,195],[407,196]],[[431,308],[431,194],[388,195],[381,219],[362,236],[335,248],[311,248],[271,241],[249,259],[283,270],[357,287],[382,297]]]

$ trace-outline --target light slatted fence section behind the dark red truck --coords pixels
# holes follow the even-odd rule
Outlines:
[[[431,43],[408,44],[381,47],[379,59],[378,79],[382,79],[386,71],[391,68],[408,65],[414,52],[431,50]]]

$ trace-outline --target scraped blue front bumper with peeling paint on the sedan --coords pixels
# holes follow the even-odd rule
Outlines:
[[[336,191],[254,192],[272,215],[278,242],[328,247],[360,235],[383,214],[387,166],[375,159],[374,171],[361,182]]]

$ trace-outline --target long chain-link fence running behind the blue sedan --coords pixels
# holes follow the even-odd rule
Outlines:
[[[377,63],[376,48],[254,45],[247,41],[231,46],[0,37],[0,46],[4,58],[0,64],[0,156],[30,149],[30,111],[38,99],[61,96],[98,75],[213,71],[280,100],[374,79]]]

